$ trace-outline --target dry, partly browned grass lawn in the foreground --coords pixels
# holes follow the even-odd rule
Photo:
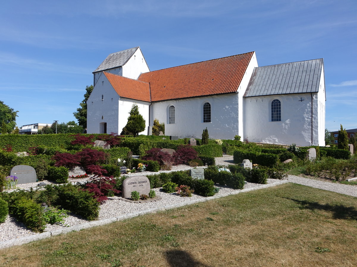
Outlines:
[[[0,250],[1,266],[357,266],[357,198],[256,190]]]

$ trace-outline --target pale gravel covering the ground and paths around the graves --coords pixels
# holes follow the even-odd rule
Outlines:
[[[216,158],[216,164],[217,165],[233,164],[233,156],[223,156],[223,157]],[[171,171],[178,171],[178,170],[184,170],[190,168],[191,167],[189,166],[179,165],[179,166],[173,166]],[[202,167],[202,168],[206,168],[206,167]],[[170,171],[166,171],[166,172],[170,172]],[[138,174],[149,175],[155,173],[151,173],[151,172],[132,173],[132,174],[128,174],[128,176],[133,176]],[[308,185],[316,188],[321,188],[321,189],[330,190],[333,192],[348,194],[357,197],[357,192],[356,192],[357,187],[353,185],[333,184],[333,183],[317,181],[317,180],[312,180],[312,179],[302,178],[292,175],[289,175],[287,179],[293,183]],[[72,182],[83,182],[86,179],[69,179],[69,180],[71,180]],[[42,181],[42,182],[45,182],[46,184],[51,183],[50,181]],[[267,182],[268,184],[272,184],[272,183],[279,182],[279,180],[268,179]],[[258,187],[260,185],[261,184],[247,183],[244,189]],[[37,183],[19,184],[18,188],[25,189],[25,188],[36,187],[36,186]],[[239,189],[232,189],[223,186],[219,186],[219,187],[220,187],[220,191],[216,194],[216,196],[222,196],[227,193],[234,193],[239,191]],[[152,208],[160,208],[172,204],[190,203],[194,200],[205,198],[196,194],[193,194],[192,197],[190,198],[180,197],[176,193],[171,193],[171,194],[164,193],[161,191],[161,188],[155,188],[154,190],[158,196],[162,197],[162,200],[151,202],[151,203],[139,204],[139,203],[130,203],[130,202],[122,201],[120,200],[120,197],[116,197],[116,196],[109,197],[109,200],[107,200],[106,203],[100,206],[99,220],[108,219],[124,214],[130,214],[137,211],[148,210]],[[74,226],[74,225],[87,223],[87,220],[82,219],[79,216],[76,216],[72,213],[70,213],[69,215],[70,216],[65,219],[64,224],[60,224],[60,225],[49,224],[46,226],[46,231],[54,231],[54,230],[62,229],[63,227],[67,227],[67,226]],[[0,224],[0,242],[16,239],[19,237],[30,236],[34,234],[36,233],[27,229],[27,227],[24,226],[24,224],[17,222],[15,218],[10,216],[7,216],[5,223]]]

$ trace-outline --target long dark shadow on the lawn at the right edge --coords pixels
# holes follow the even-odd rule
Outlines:
[[[346,207],[344,205],[320,204],[318,202],[310,202],[307,200],[298,200],[292,198],[286,199],[290,199],[296,203],[299,203],[305,209],[330,211],[333,213],[333,218],[335,219],[357,220],[357,209],[352,206]]]

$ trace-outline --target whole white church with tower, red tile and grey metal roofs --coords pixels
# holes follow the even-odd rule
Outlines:
[[[255,52],[150,71],[140,47],[110,54],[93,72],[88,133],[120,133],[132,104],[148,134],[301,146],[325,145],[323,59],[258,67]]]

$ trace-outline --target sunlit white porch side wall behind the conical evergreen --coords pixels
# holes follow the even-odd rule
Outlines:
[[[120,98],[119,99],[119,106],[118,106],[118,128],[115,132],[121,133],[124,126],[126,125],[129,117],[129,111],[132,108],[132,105],[136,104],[139,108],[139,113],[145,120],[145,130],[140,132],[139,135],[147,135],[147,127],[149,126],[149,106],[150,103],[142,102],[138,100]]]

